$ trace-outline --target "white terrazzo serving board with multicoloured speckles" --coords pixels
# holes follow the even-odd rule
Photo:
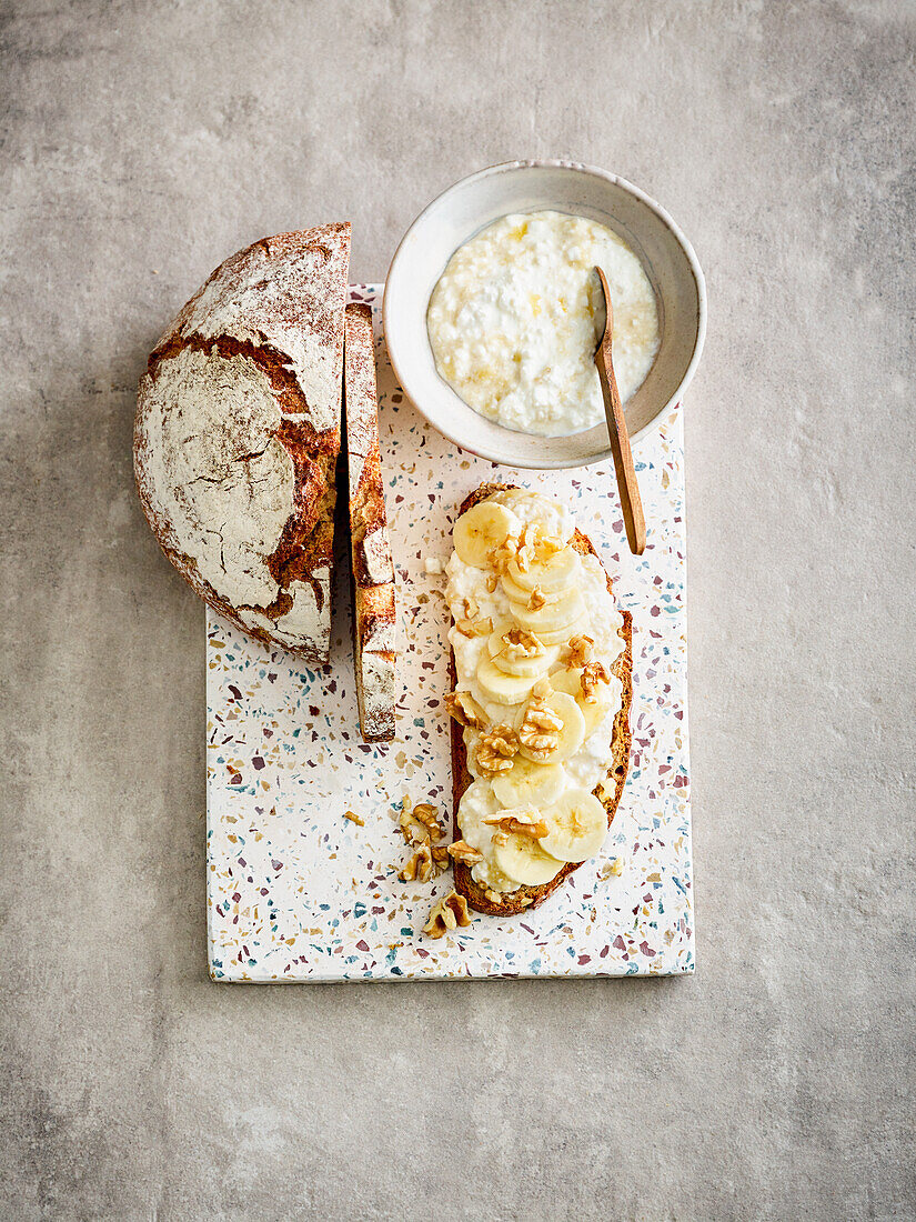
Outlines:
[[[515,472],[430,429],[397,386],[376,327],[379,426],[398,583],[397,738],[359,738],[349,582],[337,565],[331,666],[314,672],[208,610],[206,887],[210,975],[224,981],[663,975],[694,970],[686,720],[682,409],[635,448],[649,541],[627,547],[612,466]],[[633,754],[601,854],[522,916],[476,915],[434,940],[451,871],[401,882],[401,802],[451,829],[445,577],[456,507],[484,480],[573,501],[633,612]],[[346,818],[355,813],[363,825]],[[443,841],[446,843],[446,841]],[[617,863],[620,874],[611,873]]]

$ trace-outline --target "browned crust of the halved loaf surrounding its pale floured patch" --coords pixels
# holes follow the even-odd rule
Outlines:
[[[140,380],[134,428],[134,477],[143,512],[160,547],[194,591],[220,615],[248,635],[267,645],[280,644],[309,662],[326,665],[326,638],[330,635],[330,609],[325,605],[327,580],[314,574],[333,565],[333,507],[336,497],[335,464],[340,451],[340,411],[327,428],[316,428],[313,403],[289,356],[291,336],[311,334],[316,345],[333,353],[337,398],[343,358],[343,307],[349,264],[348,222],[322,225],[311,230],[278,233],[254,242],[224,260],[194,296],[181,308],[149,357]],[[311,259],[321,286],[329,292],[310,308],[303,292],[305,260]],[[182,353],[198,352],[213,362],[244,357],[267,379],[281,412],[276,440],[286,450],[293,473],[289,517],[276,546],[265,556],[277,590],[270,602],[250,606],[233,602],[200,572],[198,563],[183,550],[169,519],[159,511],[151,477],[151,455],[147,436],[147,417],[155,411],[151,401],[156,382],[169,378],[170,367]],[[202,523],[202,529],[213,523]],[[318,644],[297,642],[282,631],[275,633],[247,622],[245,612],[256,612],[276,623],[293,607],[289,593],[293,583],[310,585],[315,596],[318,628],[325,638]]]

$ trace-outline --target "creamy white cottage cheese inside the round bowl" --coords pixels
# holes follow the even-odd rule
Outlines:
[[[622,238],[563,213],[503,216],[456,251],[426,316],[440,375],[481,415],[522,433],[561,436],[603,420],[595,266],[611,290],[625,403],[658,352],[652,286]]]

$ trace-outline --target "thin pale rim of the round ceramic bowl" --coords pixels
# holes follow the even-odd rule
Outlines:
[[[415,226],[419,225],[419,222],[423,220],[426,213],[431,211],[431,209],[435,208],[436,204],[441,199],[443,199],[451,191],[454,191],[456,187],[462,187],[467,182],[473,182],[475,178],[487,178],[491,175],[503,174],[507,170],[528,170],[528,169],[574,170],[576,174],[592,175],[597,178],[605,178],[606,182],[611,182],[617,187],[622,187],[624,191],[629,192],[631,196],[634,196],[636,199],[644,203],[651,211],[656,214],[656,216],[658,216],[658,219],[672,232],[675,241],[680,246],[682,251],[686,255],[688,264],[690,265],[690,270],[692,273],[694,281],[696,284],[696,341],[694,343],[694,351],[691,353],[690,360],[688,362],[688,367],[684,370],[684,376],[678,382],[674,393],[669,396],[668,401],[658,409],[658,412],[649,422],[649,424],[641,428],[639,433],[634,433],[633,436],[630,437],[630,444],[638,445],[642,440],[642,437],[647,436],[647,434],[652,433],[658,426],[662,415],[664,415],[664,413],[669,408],[678,406],[684,391],[690,385],[694,374],[696,373],[696,367],[700,363],[700,357],[702,356],[703,345],[706,342],[706,277],[703,276],[702,268],[700,266],[700,260],[696,257],[696,252],[694,251],[690,240],[686,237],[686,235],[677,224],[677,221],[671,216],[671,214],[664,208],[662,208],[662,205],[657,200],[652,199],[651,196],[647,196],[645,191],[640,191],[639,187],[634,186],[627,178],[622,178],[617,174],[611,174],[609,170],[602,170],[601,166],[587,165],[585,161],[564,161],[561,158],[543,158],[543,159],[533,158],[519,161],[501,161],[498,165],[490,165],[486,166],[484,170],[476,170],[474,174],[465,175],[464,178],[458,178],[457,182],[453,182],[449,187],[446,187],[445,191],[440,191],[440,193],[435,196],[429,202],[429,204],[426,204],[423,211],[418,213],[416,216],[414,216],[413,221],[408,225],[407,230],[404,231],[404,236],[398,242],[397,249],[394,251],[392,260],[388,265],[388,273],[385,277],[385,296],[382,297],[382,327],[385,330],[386,347],[387,347],[387,335],[388,335],[388,282],[391,280],[392,269],[394,268],[394,264],[398,260],[398,255],[401,254],[401,248],[404,246],[404,242],[407,242],[408,237],[410,236]],[[441,425],[430,420],[429,415],[426,415],[423,407],[420,407],[420,404],[410,396],[407,386],[404,385],[404,379],[401,375],[401,370],[397,367],[391,348],[388,348],[388,359],[391,360],[391,367],[394,370],[394,376],[398,380],[398,385],[407,395],[407,397],[410,400],[410,402],[414,404],[420,415],[429,424],[431,424],[437,433],[441,433],[442,436],[446,437],[448,441],[454,442],[454,445],[457,445],[460,450],[467,450],[469,453],[476,455],[478,458],[486,458],[489,462],[497,463],[501,467],[513,466],[513,463],[507,462],[504,457],[500,457],[496,453],[489,453],[485,450],[475,450],[473,446],[469,446],[467,441],[459,441],[458,437],[453,436],[446,429],[441,428]],[[442,385],[448,386],[448,382],[443,381]],[[452,393],[456,393],[456,391],[452,391]],[[506,431],[513,433],[517,430],[506,429]],[[609,457],[612,457],[612,455],[611,455],[611,447],[608,446],[607,450],[602,451],[600,455],[595,455],[594,458],[589,458],[587,462],[576,463],[575,466],[590,467],[592,463],[603,462]],[[514,466],[522,466],[522,464],[514,463]],[[554,468],[563,468],[565,467],[565,464],[547,463],[545,467],[533,467],[525,463],[524,467],[525,469],[529,470],[550,470]],[[575,468],[573,467],[569,469],[575,469]]]

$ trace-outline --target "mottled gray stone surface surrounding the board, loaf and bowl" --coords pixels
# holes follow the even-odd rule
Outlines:
[[[904,2],[0,4],[4,1218],[909,1218],[914,145]],[[177,307],[514,156],[664,203],[694,978],[242,989],[204,957],[203,610],[132,483]]]

